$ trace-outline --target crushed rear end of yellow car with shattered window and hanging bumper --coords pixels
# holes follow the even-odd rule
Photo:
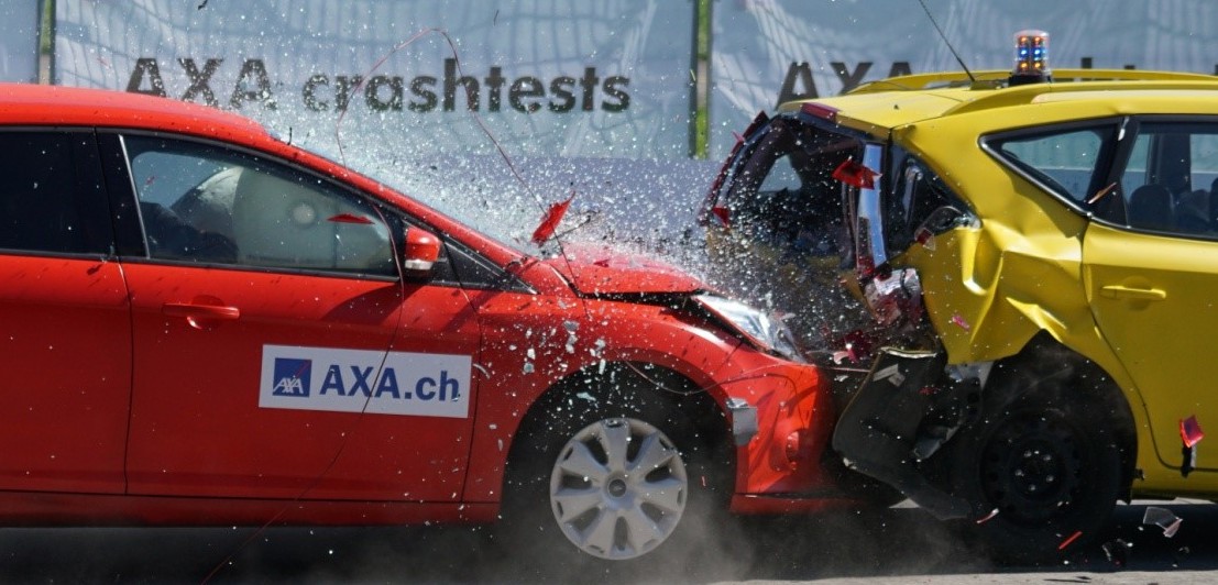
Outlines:
[[[831,378],[840,414],[832,448],[849,469],[939,517],[973,516],[923,461],[976,416],[988,371],[946,367],[920,275],[893,269],[888,251],[934,246],[976,218],[887,136],[816,106],[759,116],[728,158],[703,208],[711,279],[787,314]],[[885,190],[899,197],[881,198]]]

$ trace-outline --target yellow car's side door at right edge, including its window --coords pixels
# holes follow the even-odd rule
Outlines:
[[[1090,224],[1083,277],[1100,333],[1145,401],[1158,459],[1180,468],[1181,421],[1218,429],[1218,123],[1147,117],[1134,129],[1112,195],[1124,218]],[[1199,471],[1218,471],[1212,445],[1195,457]]]

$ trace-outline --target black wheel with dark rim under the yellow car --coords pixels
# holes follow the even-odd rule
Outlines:
[[[980,418],[943,454],[950,485],[973,504],[982,521],[970,529],[995,559],[1056,563],[1100,536],[1123,494],[1116,424],[1068,381],[1021,392],[1024,376],[998,373]]]

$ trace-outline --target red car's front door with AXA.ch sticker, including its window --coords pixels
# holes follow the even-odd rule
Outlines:
[[[460,288],[403,285],[404,218],[222,146],[123,142],[147,242],[130,493],[452,501],[479,331]]]

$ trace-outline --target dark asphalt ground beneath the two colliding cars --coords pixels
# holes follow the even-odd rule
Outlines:
[[[1147,506],[1181,518],[1178,533],[1142,524]],[[1095,544],[1047,567],[995,564],[910,506],[703,530],[716,544],[622,567],[524,558],[485,527],[7,528],[0,583],[1218,583],[1218,506],[1179,500],[1118,506]]]

